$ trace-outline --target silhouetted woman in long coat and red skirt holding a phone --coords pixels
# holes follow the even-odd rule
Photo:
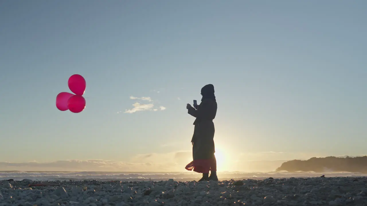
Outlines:
[[[201,95],[203,98],[197,108],[193,108],[190,104],[186,106],[188,113],[196,117],[194,134],[191,139],[193,161],[186,166],[186,169],[203,173],[203,177],[199,181],[218,181],[217,160],[214,155],[215,129],[213,119],[217,114],[214,86],[212,84],[205,85],[201,88]]]

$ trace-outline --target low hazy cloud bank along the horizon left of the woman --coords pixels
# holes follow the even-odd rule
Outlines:
[[[99,171],[99,172],[162,172],[186,171],[192,161],[191,151],[137,154],[128,162],[101,159],[61,160],[50,162],[0,162],[1,170],[22,171]]]

